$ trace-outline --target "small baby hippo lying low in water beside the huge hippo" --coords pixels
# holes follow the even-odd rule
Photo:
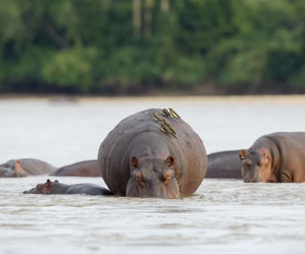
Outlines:
[[[84,195],[113,195],[113,193],[96,184],[92,183],[78,183],[78,184],[64,184],[57,180],[51,182],[49,179],[45,183],[38,183],[35,188],[25,190],[23,194],[84,194]]]

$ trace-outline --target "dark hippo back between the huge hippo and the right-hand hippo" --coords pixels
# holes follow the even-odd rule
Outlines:
[[[215,152],[207,155],[205,178],[241,179],[240,150]]]

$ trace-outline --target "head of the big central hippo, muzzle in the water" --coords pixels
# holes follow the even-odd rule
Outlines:
[[[127,184],[127,197],[179,198],[178,182],[173,170],[174,158],[132,157],[130,179]]]

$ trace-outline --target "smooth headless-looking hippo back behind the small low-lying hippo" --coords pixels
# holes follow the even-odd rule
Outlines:
[[[97,160],[84,161],[61,167],[50,176],[102,176]]]

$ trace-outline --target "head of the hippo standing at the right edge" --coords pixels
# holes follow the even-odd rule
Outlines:
[[[244,182],[267,181],[271,174],[271,160],[267,151],[240,150],[239,157],[242,161],[241,174]]]

